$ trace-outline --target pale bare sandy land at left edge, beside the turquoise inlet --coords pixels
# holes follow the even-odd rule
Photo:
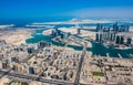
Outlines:
[[[32,32],[33,30],[28,29],[7,31],[0,35],[0,40],[4,40],[8,44],[20,45],[31,38]]]

